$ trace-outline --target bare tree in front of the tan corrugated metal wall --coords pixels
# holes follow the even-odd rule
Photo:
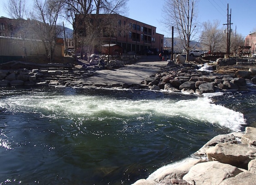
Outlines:
[[[45,46],[46,55],[50,62],[54,59],[54,50],[57,36],[63,31],[57,21],[62,11],[62,0],[35,0],[34,16],[39,20],[38,26],[34,26],[39,38]]]

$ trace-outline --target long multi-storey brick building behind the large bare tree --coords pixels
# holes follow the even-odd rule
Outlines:
[[[164,48],[164,35],[156,33],[155,26],[119,14],[77,14],[73,26],[78,40],[89,35],[92,27],[93,32],[98,32],[98,45],[118,44],[122,53],[139,54],[145,49],[161,51]]]

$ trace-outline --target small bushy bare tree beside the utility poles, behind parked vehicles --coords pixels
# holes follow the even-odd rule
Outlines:
[[[208,47],[210,52],[220,51],[223,46],[223,33],[222,30],[218,29],[220,22],[214,20],[212,23],[210,21],[202,23],[202,35],[201,43]]]

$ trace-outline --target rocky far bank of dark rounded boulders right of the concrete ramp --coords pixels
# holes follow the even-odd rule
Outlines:
[[[162,72],[146,78],[144,84],[147,84],[151,90],[164,89],[198,95],[226,91],[247,91],[250,85],[256,83],[256,66],[252,62],[247,64],[247,59],[244,59],[243,65],[237,63],[236,60],[235,58],[218,59],[213,64],[217,70],[212,72],[200,71],[198,70],[199,66],[194,63],[170,63]],[[234,65],[229,65],[231,61],[235,61]]]

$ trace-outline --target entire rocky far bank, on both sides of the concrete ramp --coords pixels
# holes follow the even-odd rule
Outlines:
[[[88,63],[80,62],[81,64],[77,65],[33,64],[33,66],[32,64],[14,61],[5,64],[5,68],[1,66],[0,86],[48,85],[77,88],[136,88],[201,95],[202,93],[247,91],[250,90],[249,87],[256,83],[254,62],[250,61],[247,64],[248,59],[238,60],[235,58],[218,59],[216,63],[211,64],[214,69],[217,68],[212,72],[198,70],[198,64],[193,62],[183,64],[170,62],[161,72],[146,77],[140,84],[122,82],[108,84],[107,82],[99,83],[96,80],[88,83],[84,80],[91,76],[97,76],[98,70],[116,69],[134,63],[137,58],[133,57],[128,57],[122,61],[113,59],[107,63],[105,62],[106,58],[102,57],[100,59],[105,62],[104,66],[96,65],[95,59],[91,59]],[[125,62],[128,60],[130,61]],[[33,69],[31,69],[32,66]],[[109,71],[111,73],[111,70]]]

